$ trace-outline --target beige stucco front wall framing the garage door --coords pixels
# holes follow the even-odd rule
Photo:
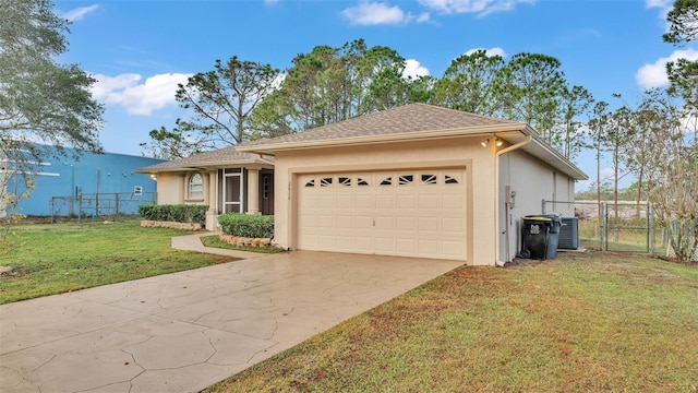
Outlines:
[[[447,139],[312,151],[278,152],[275,168],[275,242],[294,249],[299,174],[360,170],[464,168],[467,179],[467,263],[493,265],[495,252],[495,155],[479,139]]]

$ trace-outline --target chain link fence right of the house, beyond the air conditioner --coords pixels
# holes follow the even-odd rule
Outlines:
[[[576,217],[582,248],[654,253],[667,245],[647,202],[543,201],[542,210],[543,214]]]

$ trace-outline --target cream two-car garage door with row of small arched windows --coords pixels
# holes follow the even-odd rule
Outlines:
[[[302,175],[297,248],[466,259],[465,169]]]

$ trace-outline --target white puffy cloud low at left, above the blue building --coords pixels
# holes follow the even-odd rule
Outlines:
[[[154,110],[176,104],[174,92],[179,83],[185,84],[192,74],[165,73],[146,79],[139,74],[108,76],[93,75],[97,83],[93,96],[107,105],[120,105],[131,115],[151,116]]]

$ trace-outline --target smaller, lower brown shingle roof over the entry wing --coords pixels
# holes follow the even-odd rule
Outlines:
[[[174,171],[188,168],[198,168],[207,166],[234,166],[244,164],[273,165],[273,157],[260,158],[256,154],[238,152],[236,146],[219,148],[210,152],[194,154],[189,157],[173,159],[144,168],[139,168],[140,172]]]

